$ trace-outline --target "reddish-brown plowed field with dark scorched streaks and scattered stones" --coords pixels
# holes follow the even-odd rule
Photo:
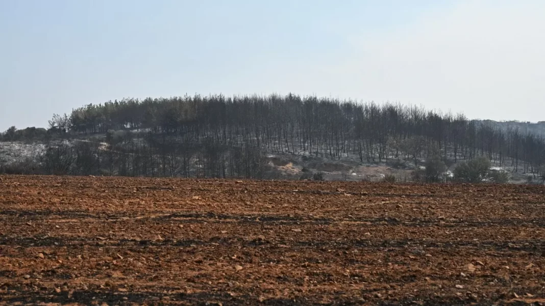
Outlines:
[[[0,304],[545,304],[544,191],[0,176]]]

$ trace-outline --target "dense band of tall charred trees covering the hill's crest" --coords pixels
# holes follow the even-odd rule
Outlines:
[[[514,166],[524,160],[525,168],[541,166],[545,159],[542,138],[469,121],[460,114],[292,94],[124,99],[89,104],[67,117],[52,127],[83,134],[150,130],[184,136],[189,143],[255,143],[273,152],[310,152],[329,159],[349,153],[358,154],[361,161],[398,158],[402,141],[413,136],[423,136],[427,146],[435,145],[455,159],[487,155]]]

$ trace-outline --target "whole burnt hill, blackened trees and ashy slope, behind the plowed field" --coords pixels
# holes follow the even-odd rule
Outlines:
[[[485,156],[532,176],[545,164],[543,137],[504,123],[292,94],[89,104],[54,115],[47,130],[10,128],[2,139],[46,143],[35,163],[24,165],[50,174],[407,179],[432,157],[452,169]]]

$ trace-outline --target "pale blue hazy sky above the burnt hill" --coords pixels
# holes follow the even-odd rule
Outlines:
[[[0,130],[186,93],[544,121],[543,16],[541,0],[0,0]]]

